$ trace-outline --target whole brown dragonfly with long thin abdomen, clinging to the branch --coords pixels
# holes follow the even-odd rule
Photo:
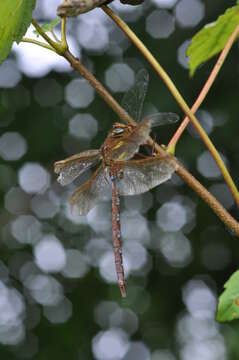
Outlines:
[[[122,106],[139,121],[148,87],[148,73],[142,69],[136,82],[123,97]],[[122,261],[122,237],[120,230],[120,195],[142,194],[171,178],[176,162],[170,155],[142,154],[152,127],[174,123],[178,115],[157,113],[146,117],[137,125],[115,123],[99,150],[83,151],[65,160],[57,161],[54,170],[61,185],[68,185],[86,170],[95,167],[93,175],[73,193],[71,208],[76,205],[80,215],[86,215],[106,192],[112,191],[112,232],[115,266],[118,284],[126,296]]]

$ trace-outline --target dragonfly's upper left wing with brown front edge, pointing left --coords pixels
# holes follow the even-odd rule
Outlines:
[[[99,150],[88,150],[55,162],[54,171],[59,174],[57,181],[63,186],[70,184],[84,171],[96,165],[100,158]]]

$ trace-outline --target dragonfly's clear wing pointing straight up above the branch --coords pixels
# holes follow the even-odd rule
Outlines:
[[[148,89],[149,74],[147,70],[141,69],[135,79],[134,86],[124,95],[122,107],[136,121],[141,120],[144,98]]]

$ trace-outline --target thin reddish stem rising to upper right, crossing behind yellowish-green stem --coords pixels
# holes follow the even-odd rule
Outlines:
[[[212,84],[214,83],[217,74],[219,73],[234,41],[236,40],[237,36],[239,34],[239,24],[237,25],[237,27],[235,28],[235,30],[233,31],[233,33],[231,34],[231,36],[229,37],[224,49],[222,50],[207,82],[205,83],[202,91],[200,92],[197,100],[195,101],[195,103],[193,104],[192,108],[191,108],[191,112],[195,113],[199,106],[201,105],[201,103],[203,102],[203,100],[205,99],[206,95],[208,94]],[[169,144],[168,144],[168,148],[169,149],[175,149],[176,144],[180,138],[180,136],[182,135],[184,129],[187,127],[188,123],[189,123],[189,118],[186,116],[183,120],[183,122],[181,123],[181,125],[179,126],[179,128],[177,129],[177,131],[175,132],[175,134],[173,135],[172,139],[170,140]]]

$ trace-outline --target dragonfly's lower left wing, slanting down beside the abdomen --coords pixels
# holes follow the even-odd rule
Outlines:
[[[104,173],[103,165],[99,166],[91,178],[81,185],[70,198],[71,209],[76,205],[79,215],[86,215],[99,200],[106,198],[111,190],[110,179]]]

